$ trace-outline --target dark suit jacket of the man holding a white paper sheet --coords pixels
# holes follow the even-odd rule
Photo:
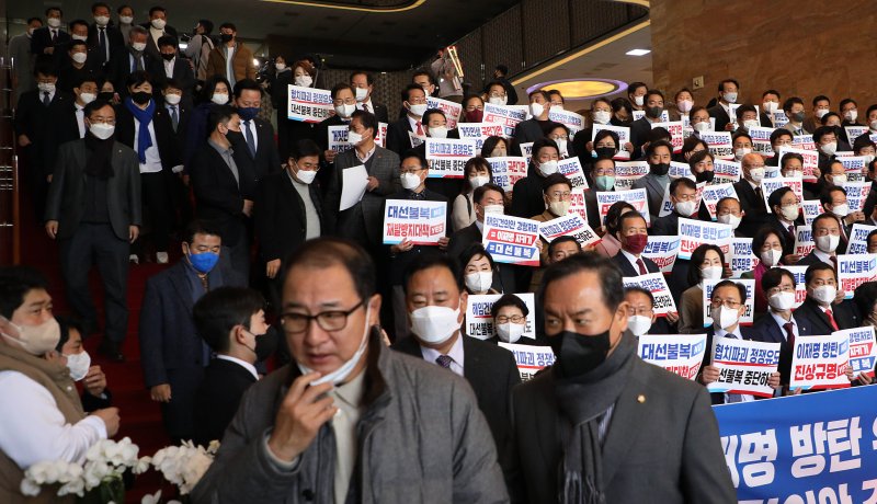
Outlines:
[[[395,152],[375,146],[369,162],[371,169],[366,165],[368,175],[378,180],[378,186],[372,192],[366,191],[360,203],[339,211],[344,170],[363,163],[356,158],[355,149],[335,156],[335,171],[329,181],[323,216],[328,233],[339,237],[360,237],[365,233],[369,243],[377,245],[383,241],[384,201],[400,191],[402,183],[399,180],[399,157]]]

